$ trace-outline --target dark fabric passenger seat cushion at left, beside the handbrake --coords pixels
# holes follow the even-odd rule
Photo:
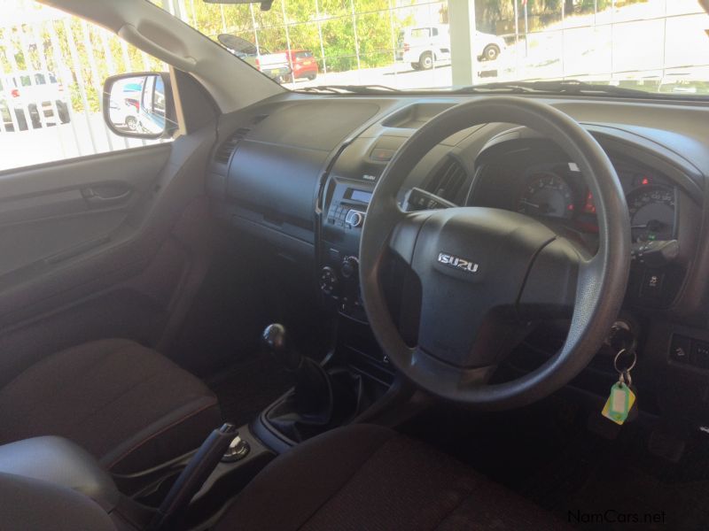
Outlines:
[[[136,342],[88,342],[44,358],[0,389],[0,443],[60,435],[115,473],[199,447],[221,423],[197,378]]]

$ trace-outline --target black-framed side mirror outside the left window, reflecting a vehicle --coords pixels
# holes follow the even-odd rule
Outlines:
[[[104,120],[119,136],[170,138],[177,129],[168,73],[123,73],[104,82]]]

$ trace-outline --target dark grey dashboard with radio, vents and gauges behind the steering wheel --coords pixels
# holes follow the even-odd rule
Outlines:
[[[357,268],[371,194],[402,143],[463,99],[290,94],[222,117],[207,177],[213,212],[312,281],[324,308],[366,327]],[[580,121],[618,173],[633,239],[621,319],[642,345],[638,378],[655,389],[688,379],[709,386],[709,106],[537,99]],[[400,202],[522,212],[590,251],[597,245],[596,204],[579,168],[525,127],[490,123],[440,142],[407,177]],[[690,356],[703,348],[706,359]]]

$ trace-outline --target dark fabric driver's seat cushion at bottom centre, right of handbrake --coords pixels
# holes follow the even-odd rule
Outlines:
[[[567,528],[424,443],[358,425],[320,435],[274,460],[216,531]]]

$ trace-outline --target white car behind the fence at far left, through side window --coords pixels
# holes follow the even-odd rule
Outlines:
[[[42,127],[43,122],[57,125],[66,124],[71,119],[64,87],[52,72],[34,70],[4,74],[0,77],[0,95],[6,128],[14,127],[12,112],[20,130],[27,129],[30,122],[32,127]]]

